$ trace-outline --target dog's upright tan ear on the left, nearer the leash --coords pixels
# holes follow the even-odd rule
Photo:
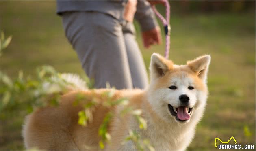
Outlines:
[[[173,68],[173,62],[167,60],[157,53],[153,53],[150,62],[150,77],[152,79],[162,77],[168,70]]]

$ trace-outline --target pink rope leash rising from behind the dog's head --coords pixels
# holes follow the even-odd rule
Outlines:
[[[171,26],[170,26],[170,5],[168,0],[165,0],[165,17],[166,19],[156,10],[155,6],[152,6],[153,11],[156,13],[156,16],[162,21],[164,29],[165,29],[165,58],[169,58],[170,51],[170,34],[171,34]]]

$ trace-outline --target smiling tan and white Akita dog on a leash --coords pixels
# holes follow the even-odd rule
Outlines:
[[[92,96],[99,96],[109,89],[82,90],[83,88],[63,94],[57,107],[39,108],[28,115],[23,128],[23,137],[27,149],[37,147],[43,150],[88,150],[94,147],[100,150],[98,129],[108,111],[116,113],[108,126],[111,142],[106,144],[108,151],[135,150],[132,141],[123,144],[128,130],[136,130],[142,138],[150,141],[156,151],[183,151],[192,141],[195,126],[200,121],[208,88],[206,85],[210,55],[204,55],[186,65],[174,65],[161,55],[154,53],[150,63],[150,85],[145,90],[115,90],[114,100],[125,97],[129,106],[141,109],[141,116],[148,128],[141,130],[132,115],[120,120],[118,111],[122,105],[106,108],[97,106],[93,111],[93,121],[86,127],[78,125],[78,112],[82,105],[74,106],[76,95],[85,96],[84,103],[90,102]],[[68,81],[80,87],[77,78]],[[89,150],[92,150],[89,149]]]

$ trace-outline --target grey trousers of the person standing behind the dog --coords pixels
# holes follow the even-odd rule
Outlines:
[[[93,11],[64,13],[62,19],[65,34],[95,88],[106,87],[106,82],[116,89],[148,85],[132,23],[123,25],[110,15]]]

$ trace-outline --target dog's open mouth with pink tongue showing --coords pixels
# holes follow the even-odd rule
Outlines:
[[[193,110],[193,108],[190,108],[188,106],[179,106],[178,108],[174,108],[173,106],[171,106],[171,104],[168,104],[168,108],[171,115],[180,122],[185,122],[189,120]]]

